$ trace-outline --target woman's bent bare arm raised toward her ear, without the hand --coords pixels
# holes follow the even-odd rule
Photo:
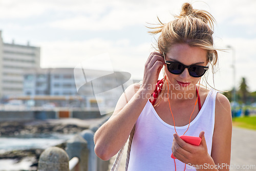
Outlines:
[[[146,104],[147,98],[143,98],[143,94],[145,91],[139,90],[138,84],[127,88],[119,98],[111,118],[96,131],[95,153],[102,160],[109,160],[113,157],[127,141]],[[129,96],[132,98],[129,99]]]

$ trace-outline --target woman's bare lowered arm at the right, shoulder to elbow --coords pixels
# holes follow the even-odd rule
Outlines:
[[[211,157],[219,170],[229,170],[231,155],[232,117],[228,99],[218,93],[216,97],[215,128]]]

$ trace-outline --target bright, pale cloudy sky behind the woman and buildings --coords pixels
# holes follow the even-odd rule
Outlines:
[[[256,91],[254,0],[0,0],[0,30],[5,43],[27,45],[29,41],[31,46],[40,47],[42,68],[75,68],[107,53],[115,71],[142,79],[144,64],[155,51],[157,39],[157,35],[147,33],[146,26],[157,24],[157,17],[163,23],[173,20],[184,2],[216,19],[215,47],[225,52],[219,51],[215,88],[231,90],[234,80],[238,88],[245,77],[249,91]],[[92,67],[104,66],[95,62]],[[213,86],[210,72],[208,81]]]

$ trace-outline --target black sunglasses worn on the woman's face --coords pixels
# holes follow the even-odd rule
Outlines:
[[[209,67],[205,67],[205,66],[197,66],[197,65],[185,66],[183,63],[180,63],[180,62],[168,61],[168,60],[165,60],[165,56],[164,56],[164,61],[167,65],[168,71],[176,75],[181,74],[185,70],[185,68],[187,68],[188,73],[191,77],[201,77],[209,69]]]

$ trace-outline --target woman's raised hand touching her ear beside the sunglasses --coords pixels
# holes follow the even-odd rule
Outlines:
[[[152,94],[156,87],[159,73],[164,65],[164,58],[159,52],[152,52],[147,58],[144,68],[142,88]]]

